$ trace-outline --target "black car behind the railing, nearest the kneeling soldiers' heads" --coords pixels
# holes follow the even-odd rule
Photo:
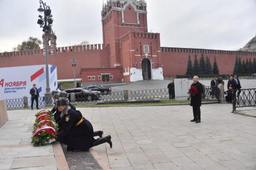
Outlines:
[[[83,88],[72,88],[64,91],[66,91],[66,93],[69,94],[69,100],[70,94],[75,93],[75,102],[99,100],[99,96],[101,95],[101,93],[98,91],[88,91],[84,90]]]

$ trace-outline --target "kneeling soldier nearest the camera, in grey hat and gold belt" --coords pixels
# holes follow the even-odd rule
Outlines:
[[[63,121],[57,140],[67,145],[67,151],[88,151],[89,148],[105,142],[112,148],[111,136],[93,138],[92,124],[83,117],[81,112],[70,108],[68,99],[60,97],[56,103]]]

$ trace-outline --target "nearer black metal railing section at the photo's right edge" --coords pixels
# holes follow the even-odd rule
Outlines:
[[[256,106],[256,88],[233,90],[233,112],[236,108]]]

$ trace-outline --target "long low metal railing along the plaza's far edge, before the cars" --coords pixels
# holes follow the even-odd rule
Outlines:
[[[75,93],[75,102],[78,105],[84,104],[96,104],[97,102],[123,102],[127,100],[153,100],[169,99],[169,90],[167,88],[161,89],[151,89],[151,90],[136,90],[136,91],[118,91],[111,92],[110,94],[101,94],[101,96],[88,97],[88,94]],[[69,100],[70,99],[69,94]],[[25,98],[24,98],[25,99]],[[27,98],[27,102],[21,99],[8,99],[6,100],[6,106],[10,108],[26,108],[31,105],[31,98]],[[204,92],[202,93],[202,100],[219,100],[219,88],[204,87]],[[27,105],[25,105],[27,103]],[[52,105],[54,103],[52,102]],[[34,101],[34,106],[36,106],[36,101]],[[39,97],[39,106],[46,106],[45,97]]]

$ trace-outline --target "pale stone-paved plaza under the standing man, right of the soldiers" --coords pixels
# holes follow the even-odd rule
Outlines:
[[[256,169],[256,118],[232,105],[78,108],[95,130],[113,138],[94,147],[111,169]]]

